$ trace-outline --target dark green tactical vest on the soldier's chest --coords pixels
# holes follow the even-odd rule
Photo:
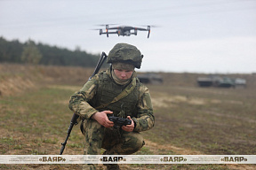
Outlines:
[[[112,111],[114,116],[118,116],[119,112],[124,112],[125,118],[127,116],[136,116],[136,104],[138,103],[140,96],[140,81],[138,78],[133,79],[136,79],[135,88],[126,97],[116,101],[115,103],[108,104],[113,101],[113,99],[117,97],[125,89],[125,87],[116,84],[116,82],[113,81],[113,79],[106,72],[101,72],[99,74],[99,86],[97,92],[89,104],[91,104],[94,108],[97,108],[102,104],[108,104],[106,107],[98,110],[100,112],[108,110]],[[129,85],[131,84],[128,83],[128,86]]]

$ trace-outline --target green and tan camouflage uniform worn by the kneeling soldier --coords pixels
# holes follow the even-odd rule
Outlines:
[[[76,92],[69,101],[69,108],[84,120],[84,154],[86,155],[99,155],[101,148],[106,149],[104,154],[107,155],[132,154],[139,151],[145,144],[140,132],[154,127],[155,117],[149,90],[140,83],[135,72],[131,78],[131,81],[136,82],[132,92],[129,92],[126,97],[108,104],[126,86],[132,86],[132,83],[117,84],[111,76],[111,71],[110,66],[107,71],[93,76],[92,80],[87,81],[83,89]],[[122,128],[101,126],[100,123],[92,119],[92,115],[102,111],[112,111],[114,116],[123,118],[130,116],[135,126],[133,131],[126,132]]]

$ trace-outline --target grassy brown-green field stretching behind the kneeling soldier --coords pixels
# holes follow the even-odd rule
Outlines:
[[[0,154],[60,154],[60,143],[66,138],[73,114],[68,109],[68,100],[83,86],[83,80],[81,81],[78,75],[68,79],[67,74],[71,76],[72,73],[62,67],[58,69],[32,67],[29,68],[29,72],[27,69],[20,72],[17,66],[15,69],[17,72],[13,71],[14,67],[12,72],[8,72],[8,69],[2,72],[4,69],[1,70],[0,66],[2,94],[8,94],[0,96],[2,120],[0,121]],[[32,71],[34,73],[31,73]],[[80,68],[73,69],[72,72],[83,74]],[[89,75],[91,71],[88,72]],[[63,79],[61,79],[62,74],[65,74]],[[9,85],[13,84],[20,76],[23,77],[19,81],[22,87],[16,87],[20,86],[16,83],[8,92],[7,82]],[[177,84],[148,85],[154,105],[156,126],[142,133],[146,145],[137,154],[255,155],[255,87],[207,89],[196,87],[192,82],[186,86],[183,82],[180,79]],[[25,84],[27,87],[23,87]],[[76,126],[69,137],[64,154],[83,154],[83,142],[84,136]],[[254,165],[122,165],[121,167],[198,170],[256,168]],[[0,165],[0,169],[81,169],[81,166]]]

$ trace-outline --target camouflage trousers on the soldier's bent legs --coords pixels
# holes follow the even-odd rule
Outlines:
[[[139,132],[125,132],[116,128],[104,128],[96,120],[84,120],[85,155],[130,155],[145,144]]]

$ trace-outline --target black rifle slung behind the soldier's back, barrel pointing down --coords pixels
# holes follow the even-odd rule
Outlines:
[[[98,63],[97,63],[97,66],[95,67],[94,72],[92,73],[92,76],[89,77],[89,80],[88,80],[88,81],[90,81],[90,80],[92,79],[92,77],[93,77],[96,73],[98,73],[98,72],[100,71],[100,67],[102,66],[102,64],[104,63],[104,61],[106,60],[106,58],[108,58],[108,56],[106,55],[105,52],[102,52],[102,53],[101,53],[101,56],[100,56],[100,59],[99,59],[99,61],[98,61]],[[62,146],[61,146],[61,149],[60,149],[60,155],[62,155],[62,153],[63,153],[63,151],[64,151],[64,149],[65,149],[65,146],[66,146],[66,144],[67,144],[67,142],[68,142],[68,137],[69,137],[69,135],[71,134],[72,128],[74,127],[74,125],[77,125],[77,124],[78,124],[78,123],[77,123],[77,119],[78,119],[78,118],[79,118],[79,115],[76,114],[76,113],[74,113],[73,116],[72,116],[72,119],[71,119],[71,121],[70,121],[70,125],[69,125],[69,127],[68,127],[68,135],[67,135],[67,137],[66,137],[66,140],[65,140],[64,143],[61,143]]]

